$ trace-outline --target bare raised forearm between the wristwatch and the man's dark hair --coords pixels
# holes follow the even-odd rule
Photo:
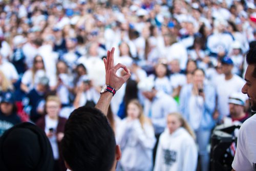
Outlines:
[[[113,94],[110,92],[105,92],[101,94],[99,101],[95,105],[95,108],[100,110],[106,116],[106,114],[108,114],[108,109],[109,109],[112,98],[113,98]]]

